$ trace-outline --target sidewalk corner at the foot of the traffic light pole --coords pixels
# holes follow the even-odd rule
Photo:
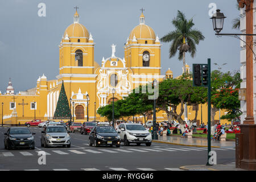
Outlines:
[[[186,171],[246,171],[245,169],[236,168],[235,165],[218,164],[214,166],[195,165],[195,166],[181,166],[180,169]]]

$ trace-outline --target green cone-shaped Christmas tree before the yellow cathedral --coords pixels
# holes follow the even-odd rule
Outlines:
[[[65,92],[64,83],[61,85],[60,96],[57,102],[57,107],[54,113],[54,117],[70,117],[71,110],[68,104],[68,98]]]

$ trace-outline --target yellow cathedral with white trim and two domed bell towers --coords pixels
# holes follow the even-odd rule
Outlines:
[[[124,46],[124,57],[115,55],[115,45],[112,44],[110,55],[102,58],[101,65],[94,61],[94,43],[92,34],[79,23],[80,16],[73,16],[73,23],[64,31],[59,44],[59,75],[56,80],[47,80],[43,74],[36,82],[36,87],[25,92],[14,93],[11,80],[5,93],[0,92],[0,103],[3,107],[3,123],[22,125],[32,119],[53,119],[57,106],[62,82],[68,100],[71,99],[71,113],[76,122],[105,121],[105,118],[94,113],[101,106],[113,100],[121,100],[139,85],[162,81],[172,78],[169,70],[166,75],[161,71],[161,44],[158,35],[145,23],[143,13],[139,17],[139,24],[131,30]],[[111,49],[110,49],[111,50]],[[189,72],[188,65],[186,71]],[[88,100],[86,98],[88,95]],[[88,103],[88,105],[87,105]],[[89,112],[87,113],[87,109]],[[207,106],[199,110],[207,121]],[[188,108],[189,119],[193,119],[195,111]],[[217,115],[218,113],[216,113]],[[224,112],[221,113],[222,115]],[[95,116],[94,116],[95,115]],[[192,117],[193,116],[193,117]],[[1,117],[2,118],[2,117]],[[142,116],[135,117],[136,121],[143,121]],[[150,118],[149,120],[151,120]],[[158,122],[167,121],[167,114],[159,111],[156,115]],[[218,117],[216,116],[216,119]]]

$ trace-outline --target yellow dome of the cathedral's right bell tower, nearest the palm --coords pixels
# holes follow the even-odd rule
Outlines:
[[[146,24],[139,24],[130,33],[129,39],[132,40],[135,35],[136,39],[153,39],[155,40],[155,31]]]

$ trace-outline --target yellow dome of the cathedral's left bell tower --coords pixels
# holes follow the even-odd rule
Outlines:
[[[77,38],[89,38],[89,32],[85,26],[80,23],[73,23],[64,32],[65,35],[68,34],[69,37],[77,37]]]

